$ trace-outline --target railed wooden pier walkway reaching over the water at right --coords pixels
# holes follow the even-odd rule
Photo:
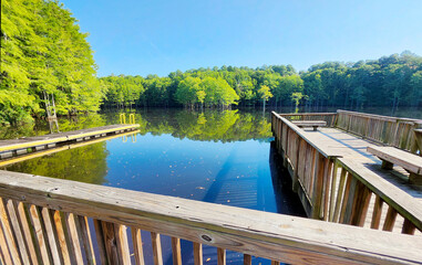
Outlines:
[[[289,119],[325,120],[330,128],[300,129]],[[277,149],[308,216],[413,235],[422,231],[422,187],[409,183],[409,173],[400,167],[381,169],[367,148],[387,144],[418,156],[421,124],[342,110],[272,113]]]

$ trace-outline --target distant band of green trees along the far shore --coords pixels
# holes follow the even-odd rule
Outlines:
[[[395,108],[422,104],[422,57],[410,52],[357,63],[326,62],[300,73],[291,65],[223,66],[177,71],[166,77],[121,75],[101,80],[109,87],[105,105],[113,107],[301,104]]]

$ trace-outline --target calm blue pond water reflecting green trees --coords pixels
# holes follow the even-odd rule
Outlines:
[[[61,119],[59,128],[72,130],[119,123],[109,113]],[[247,209],[303,215],[288,178],[280,176],[270,141],[269,115],[261,112],[187,112],[148,109],[136,113],[141,132],[79,147],[8,166],[11,171],[78,180],[157,194]],[[24,131],[24,128],[21,129]],[[27,131],[49,131],[37,125]],[[14,132],[3,132],[12,136]],[[143,234],[145,254],[152,253]],[[163,237],[166,264],[172,264],[171,242]],[[150,250],[148,250],[150,248]],[[184,263],[193,263],[192,243],[183,242]],[[231,264],[243,255],[228,252]],[[204,262],[216,264],[216,248],[204,246]],[[268,261],[256,259],[257,264]],[[146,256],[146,264],[152,264]]]

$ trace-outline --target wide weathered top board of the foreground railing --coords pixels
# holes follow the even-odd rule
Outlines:
[[[2,205],[11,205],[9,201],[12,200],[14,204],[23,202],[25,205],[41,206],[41,212],[47,214],[42,216],[47,219],[48,211],[60,211],[71,218],[70,220],[74,220],[70,214],[78,214],[80,218],[93,218],[94,223],[101,221],[105,224],[121,225],[115,226],[120,227],[116,234],[120,235],[119,250],[125,248],[127,237],[124,236],[125,229],[122,229],[122,225],[127,225],[131,230],[153,232],[154,239],[157,239],[157,233],[162,233],[198,243],[199,246],[208,244],[292,264],[422,262],[422,253],[419,251],[422,239],[419,236],[395,235],[69,180],[0,171],[0,195]],[[7,219],[14,210],[7,208],[7,211],[9,214],[3,214],[1,221],[2,231],[9,233],[14,231],[14,226],[7,224]],[[60,219],[60,214],[58,216]],[[8,225],[13,229],[6,227]],[[89,222],[84,225],[89,225]],[[103,223],[102,227],[107,226]],[[4,235],[7,236],[6,233]],[[394,242],[393,247],[391,242]],[[159,241],[154,244],[158,243]],[[19,257],[19,253],[23,253],[19,246],[18,243],[14,246],[8,245],[16,258]],[[59,250],[60,247],[62,245],[58,246]]]

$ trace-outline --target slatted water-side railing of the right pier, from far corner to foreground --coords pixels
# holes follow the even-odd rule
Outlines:
[[[299,129],[276,113],[272,131],[308,216],[372,229],[381,223],[384,231],[400,225],[405,234],[422,231],[422,208],[408,193],[341,158],[327,148],[322,137]],[[387,213],[381,211],[383,204]]]

